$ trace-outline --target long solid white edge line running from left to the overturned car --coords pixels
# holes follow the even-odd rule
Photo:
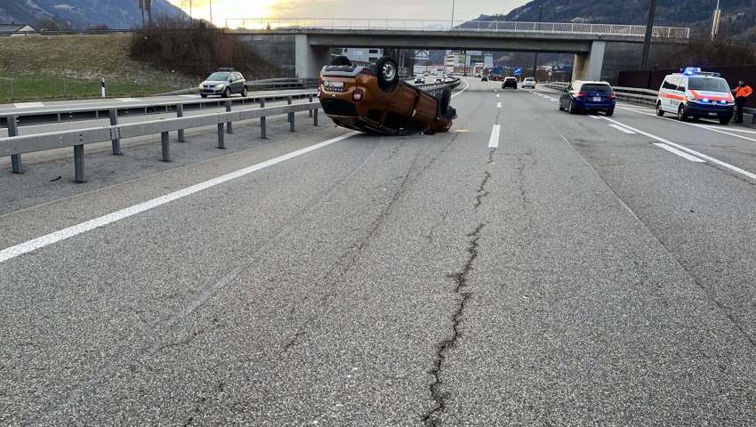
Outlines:
[[[294,157],[302,156],[303,154],[307,154],[310,151],[314,151],[316,149],[322,149],[323,147],[331,145],[334,142],[346,140],[347,138],[350,138],[351,136],[354,136],[356,134],[358,134],[358,132],[347,133],[328,141],[319,142],[315,145],[310,145],[310,147],[306,147],[304,149],[298,149],[296,151],[292,151],[291,153],[285,154],[283,156],[271,158],[264,162],[258,163],[257,165],[245,167],[244,169],[239,169],[236,172],[226,173],[217,178],[213,178],[212,180],[200,182],[198,184],[192,185],[185,189],[180,189],[178,191],[173,191],[173,193],[168,193],[165,196],[153,198],[152,200],[142,202],[138,205],[129,206],[124,209],[121,209],[120,211],[116,211],[111,214],[106,214],[99,218],[94,218],[93,220],[82,222],[80,224],[68,227],[63,230],[52,232],[50,234],[42,236],[41,238],[35,238],[32,240],[28,240],[27,242],[21,243],[19,245],[5,248],[4,250],[0,251],[0,262],[11,260],[12,258],[20,256],[22,254],[28,254],[29,252],[36,251],[37,249],[41,249],[44,246],[50,246],[54,243],[60,242],[61,240],[65,240],[67,238],[73,238],[86,231],[104,227],[108,224],[123,220],[135,214],[141,214],[142,212],[149,211],[150,209],[153,209],[157,206],[165,205],[166,203],[173,202],[174,200],[178,200],[182,197],[190,196],[204,189],[215,187],[224,182],[236,180],[237,178],[241,178],[242,176],[245,176],[249,173],[257,172],[261,169],[265,169],[266,167],[269,167],[272,165],[277,165],[281,162],[285,162],[286,160],[290,160]]]

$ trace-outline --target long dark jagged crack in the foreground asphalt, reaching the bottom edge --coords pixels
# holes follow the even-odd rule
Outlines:
[[[436,401],[436,405],[428,412],[428,414],[422,417],[422,422],[425,423],[425,425],[431,427],[437,427],[441,425],[440,419],[438,417],[446,411],[446,399],[448,398],[448,393],[444,393],[440,390],[443,383],[441,380],[442,370],[444,367],[444,361],[446,361],[446,354],[449,350],[454,348],[457,340],[461,336],[459,326],[462,323],[462,315],[464,313],[465,307],[467,306],[467,302],[470,301],[470,298],[472,296],[470,292],[466,291],[467,276],[468,274],[470,274],[470,270],[472,270],[472,264],[478,258],[478,241],[480,239],[480,231],[482,231],[483,227],[485,226],[486,224],[484,222],[481,222],[478,224],[478,227],[476,227],[474,231],[467,235],[467,237],[470,238],[467,247],[467,260],[465,261],[462,270],[457,271],[451,275],[451,278],[454,278],[455,283],[454,294],[459,295],[460,298],[456,304],[454,314],[452,315],[452,335],[442,342],[438,343],[436,361],[434,362],[433,367],[430,369],[430,375],[433,377],[433,382],[430,383],[429,389],[430,395]]]

